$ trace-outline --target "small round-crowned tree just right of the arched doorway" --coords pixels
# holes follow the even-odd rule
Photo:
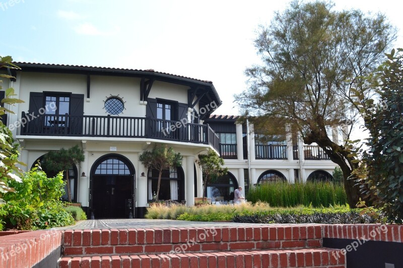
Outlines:
[[[157,169],[159,171],[156,202],[158,202],[160,195],[162,172],[164,169],[180,166],[182,164],[182,158],[183,157],[180,153],[175,153],[175,150],[172,147],[168,148],[166,144],[160,146],[155,144],[151,151],[145,151],[139,156],[139,160],[147,168]]]

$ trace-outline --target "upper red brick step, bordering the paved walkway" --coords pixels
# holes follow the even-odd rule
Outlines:
[[[258,250],[322,246],[320,226],[67,230],[64,255]]]

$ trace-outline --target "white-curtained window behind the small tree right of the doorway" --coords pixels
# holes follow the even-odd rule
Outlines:
[[[148,200],[152,201],[158,190],[157,169],[148,170]],[[181,167],[171,167],[162,171],[161,185],[158,200],[174,200],[180,202],[184,199],[184,180]]]

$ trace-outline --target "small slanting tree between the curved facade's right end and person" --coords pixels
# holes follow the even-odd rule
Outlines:
[[[206,195],[206,187],[217,177],[228,172],[228,168],[224,168],[224,159],[221,158],[213,149],[209,149],[207,154],[199,154],[196,160],[197,165],[203,172],[203,201]]]

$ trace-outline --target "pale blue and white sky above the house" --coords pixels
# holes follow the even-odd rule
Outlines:
[[[335,0],[336,10],[381,12],[399,29],[396,1]],[[211,80],[236,115],[244,70],[259,64],[259,25],[289,1],[0,0],[0,55],[15,61],[156,71]],[[394,47],[403,47],[399,29]]]

